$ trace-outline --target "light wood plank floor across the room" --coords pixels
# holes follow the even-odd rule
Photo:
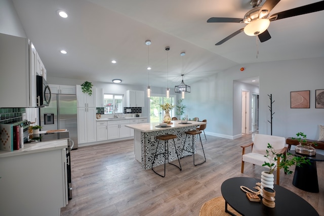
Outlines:
[[[202,140],[207,162],[194,166],[192,156],[182,158],[182,171],[167,164],[165,178],[141,168],[135,160],[133,140],[73,150],[73,198],[61,209],[61,215],[199,215],[204,202],[221,196],[226,179],[260,179],[264,167],[246,163],[245,173],[240,172],[240,146],[250,143],[251,135],[235,140],[207,136],[207,141],[205,137]],[[293,175],[284,175],[282,170],[280,185],[303,197],[324,216],[323,171],[324,162],[317,162],[319,193],[294,187]],[[287,207],[298,206],[287,200]]]

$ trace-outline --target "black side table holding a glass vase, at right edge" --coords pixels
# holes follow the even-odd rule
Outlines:
[[[301,164],[301,166],[296,166],[293,185],[303,191],[318,193],[316,161],[324,161],[324,155],[316,153],[314,156],[306,156],[298,154],[294,150],[288,152],[296,156],[303,156],[306,159],[309,159],[310,162],[310,164]]]

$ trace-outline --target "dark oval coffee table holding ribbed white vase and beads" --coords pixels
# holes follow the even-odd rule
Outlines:
[[[275,207],[269,208],[261,202],[251,202],[246,193],[239,187],[246,186],[250,189],[255,187],[257,182],[261,182],[259,179],[236,177],[231,178],[223,182],[221,186],[221,192],[225,199],[225,211],[231,215],[235,215],[227,211],[227,204],[229,204],[234,210],[242,215],[319,215],[315,208],[311,206],[306,200],[298,196],[297,194],[287,190],[278,185],[274,185],[275,190]],[[255,189],[253,189],[255,190]],[[262,197],[259,196],[262,200]],[[288,203],[293,203],[292,205]]]

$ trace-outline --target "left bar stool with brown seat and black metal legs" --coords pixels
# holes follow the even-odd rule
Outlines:
[[[153,162],[152,162],[152,170],[157,174],[159,175],[160,177],[165,177],[166,176],[166,163],[167,163],[167,159],[168,159],[168,163],[169,164],[172,164],[176,167],[178,167],[180,170],[182,170],[181,168],[181,164],[180,164],[180,159],[179,159],[179,156],[178,156],[178,152],[177,152],[177,148],[176,148],[176,142],[174,141],[174,139],[177,138],[177,135],[173,135],[173,134],[166,134],[166,135],[161,135],[161,136],[156,136],[155,137],[156,140],[158,140],[158,143],[157,143],[157,146],[156,146],[156,149],[155,149],[155,154],[154,154],[154,157],[153,157]],[[178,158],[178,161],[179,161],[179,166],[177,166],[176,164],[173,164],[173,163],[170,163],[169,162],[169,143],[168,141],[169,140],[173,140],[173,145],[174,145],[174,148],[176,150],[176,154],[177,154],[177,158]],[[160,144],[160,141],[164,141],[164,152],[161,152],[161,153],[157,153],[157,149],[158,149],[158,145]],[[155,158],[160,155],[160,154],[163,154],[164,155],[164,158],[165,158],[165,162],[164,162],[164,176],[158,174],[154,169],[153,169],[153,166],[154,166],[154,162],[155,162]]]

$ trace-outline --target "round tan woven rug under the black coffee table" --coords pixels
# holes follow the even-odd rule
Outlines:
[[[227,205],[227,210],[239,215],[231,206]],[[227,216],[225,212],[225,200],[222,196],[213,198],[203,204],[199,211],[199,216]]]

